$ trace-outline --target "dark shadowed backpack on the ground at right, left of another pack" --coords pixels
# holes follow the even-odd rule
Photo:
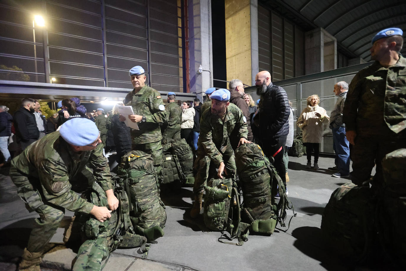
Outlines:
[[[341,185],[324,208],[321,232],[326,245],[350,262],[365,262],[376,240],[376,203],[366,186]]]

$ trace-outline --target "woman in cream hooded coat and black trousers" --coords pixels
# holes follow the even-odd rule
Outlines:
[[[303,145],[306,146],[307,165],[306,168],[311,168],[311,154],[314,152],[314,169],[319,169],[317,164],[319,160],[319,146],[323,137],[323,123],[328,124],[326,110],[320,107],[320,98],[318,95],[307,97],[307,107],[304,108],[296,124],[303,131]]]

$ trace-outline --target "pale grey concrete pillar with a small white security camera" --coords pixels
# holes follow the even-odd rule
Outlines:
[[[211,10],[211,0],[188,0],[190,92],[202,102],[202,93],[213,85]]]

